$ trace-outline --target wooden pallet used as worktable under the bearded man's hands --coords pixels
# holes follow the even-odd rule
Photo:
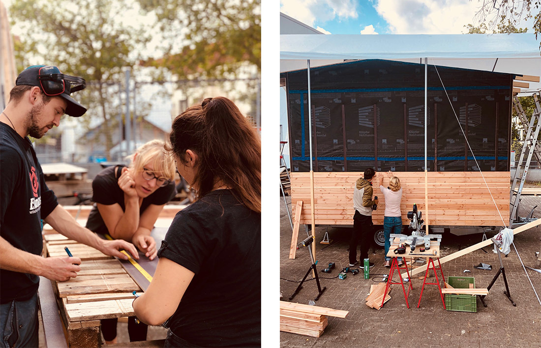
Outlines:
[[[117,259],[57,233],[43,238],[47,256],[67,256],[64,246],[68,246],[82,260],[76,278],[51,281],[68,345],[100,347],[100,320],[133,316],[132,292],[142,292],[141,288]]]

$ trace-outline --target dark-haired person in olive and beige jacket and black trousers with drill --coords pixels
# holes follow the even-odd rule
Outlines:
[[[372,205],[378,204],[378,199],[372,200],[374,190],[370,181],[375,175],[375,170],[367,168],[364,173],[364,179],[359,178],[355,183],[353,191],[353,208],[355,215],[353,216],[353,232],[351,240],[349,240],[349,266],[357,265],[357,245],[360,241],[360,264],[368,258],[368,247],[370,246],[370,238],[372,232]],[[370,262],[370,267],[374,265]]]

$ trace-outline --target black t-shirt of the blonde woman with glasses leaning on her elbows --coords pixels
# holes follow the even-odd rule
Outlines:
[[[115,175],[115,168],[118,168]],[[118,203],[122,208],[122,211],[126,211],[126,205],[124,205],[124,191],[118,186],[118,178],[122,174],[122,168],[124,165],[109,166],[102,170],[92,182],[93,197],[92,200],[96,203],[111,205]],[[171,182],[167,186],[158,188],[151,193],[148,197],[143,198],[141,207],[139,209],[139,215],[145,211],[150,204],[162,205],[166,204],[175,196],[175,183]],[[100,211],[97,206],[94,205],[90,211],[90,215],[87,220],[87,228],[90,231],[101,233],[109,233],[107,226],[103,221]]]

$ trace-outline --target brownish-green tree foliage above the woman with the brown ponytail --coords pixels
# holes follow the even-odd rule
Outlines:
[[[235,76],[243,64],[261,71],[260,0],[137,1],[163,35],[163,57],[147,65],[179,79]]]

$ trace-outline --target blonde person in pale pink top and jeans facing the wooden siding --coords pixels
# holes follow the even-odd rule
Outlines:
[[[400,179],[395,177],[391,171],[387,172],[389,186],[383,186],[383,173],[379,175],[379,189],[385,198],[385,216],[383,219],[383,231],[385,233],[385,267],[391,266],[391,258],[387,257],[387,252],[391,247],[389,240],[391,233],[400,233],[402,230],[402,215],[400,213],[400,202],[402,200],[402,188]],[[398,265],[402,265],[402,258],[397,259]]]

